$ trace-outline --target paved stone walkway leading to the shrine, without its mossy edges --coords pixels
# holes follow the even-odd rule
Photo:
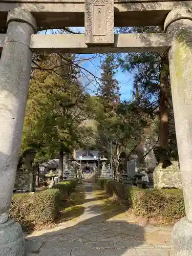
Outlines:
[[[168,256],[171,227],[104,221],[92,184],[85,183],[84,213],[73,221],[27,237],[26,256]]]

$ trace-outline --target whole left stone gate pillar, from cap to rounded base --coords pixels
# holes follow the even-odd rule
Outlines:
[[[0,255],[24,256],[22,228],[9,218],[23,123],[32,53],[29,48],[36,22],[21,9],[9,12],[0,60]]]

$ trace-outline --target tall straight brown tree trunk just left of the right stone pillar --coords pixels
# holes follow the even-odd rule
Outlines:
[[[168,53],[161,55],[160,98],[159,98],[159,147],[160,162],[169,161],[168,156],[168,97],[169,97]],[[163,167],[163,166],[162,166]],[[165,167],[166,168],[166,167]]]

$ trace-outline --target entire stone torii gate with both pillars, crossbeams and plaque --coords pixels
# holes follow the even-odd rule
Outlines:
[[[9,218],[32,53],[168,51],[186,218],[172,232],[172,255],[192,255],[192,1],[0,0],[0,254],[24,256]],[[164,25],[162,34],[114,35],[114,26]],[[85,26],[85,35],[35,35],[38,28]]]

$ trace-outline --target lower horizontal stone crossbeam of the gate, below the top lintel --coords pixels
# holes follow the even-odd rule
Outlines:
[[[5,34],[0,34],[0,52]],[[36,53],[113,53],[113,52],[165,52],[172,45],[165,33],[114,34],[113,46],[88,47],[83,34],[78,35],[31,35],[30,48]]]

